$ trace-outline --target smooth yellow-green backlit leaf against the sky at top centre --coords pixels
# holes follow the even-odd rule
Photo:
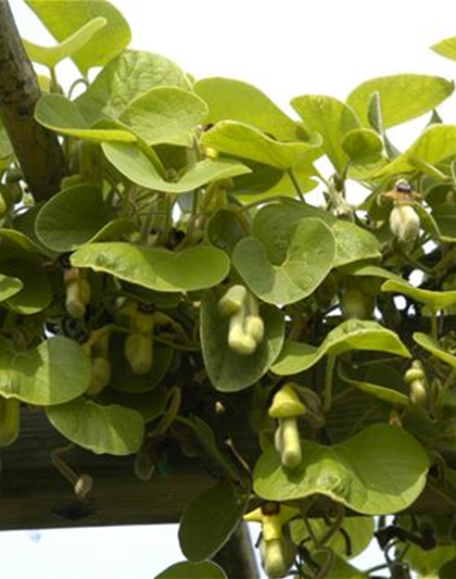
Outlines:
[[[210,108],[207,123],[239,121],[284,141],[296,140],[299,127],[264,92],[232,78],[203,78],[194,91]]]

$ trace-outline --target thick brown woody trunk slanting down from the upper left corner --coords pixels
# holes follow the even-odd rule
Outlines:
[[[0,0],[0,118],[37,201],[60,189],[64,156],[56,135],[34,117],[41,92],[8,0]]]

